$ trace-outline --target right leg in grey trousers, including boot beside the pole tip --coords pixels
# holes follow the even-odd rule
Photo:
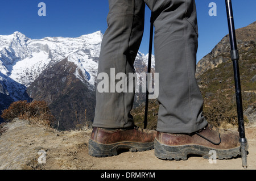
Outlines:
[[[203,117],[203,98],[196,83],[197,20],[193,0],[147,1],[155,25],[155,72],[160,104],[155,155],[187,159],[189,154],[218,159],[240,154],[237,132],[221,132]]]

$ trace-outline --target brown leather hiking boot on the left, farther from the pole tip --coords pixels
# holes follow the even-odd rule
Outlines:
[[[94,127],[89,140],[89,155],[108,157],[117,155],[119,150],[146,151],[154,149],[156,131],[134,129],[116,129],[108,131]]]

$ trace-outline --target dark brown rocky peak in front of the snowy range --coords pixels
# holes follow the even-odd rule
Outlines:
[[[31,98],[48,103],[56,117],[55,127],[60,120],[59,129],[62,130],[84,125],[94,116],[95,87],[85,79],[78,79],[77,74],[83,77],[78,66],[65,58],[43,70],[27,89]]]

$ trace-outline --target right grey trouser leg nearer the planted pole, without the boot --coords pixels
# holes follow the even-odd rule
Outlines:
[[[157,131],[191,133],[207,125],[195,78],[194,0],[145,0],[154,15],[155,72],[159,73]]]

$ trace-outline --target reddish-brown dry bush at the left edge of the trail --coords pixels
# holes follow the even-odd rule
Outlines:
[[[1,117],[10,121],[18,117],[19,119],[26,119],[31,124],[44,125],[50,127],[55,117],[49,111],[47,103],[44,101],[33,101],[27,103],[27,100],[19,100],[13,102],[9,108],[3,110]]]

